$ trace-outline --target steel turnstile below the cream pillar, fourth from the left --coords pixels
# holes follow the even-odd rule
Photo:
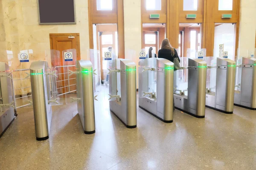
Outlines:
[[[113,91],[110,96],[116,98],[109,102],[110,110],[126,127],[135,128],[137,127],[136,64],[128,59],[114,59],[112,62],[112,68],[116,68],[116,63],[120,62],[120,69],[110,70],[109,87],[112,89],[110,91]],[[118,83],[121,87],[121,96],[117,95]]]

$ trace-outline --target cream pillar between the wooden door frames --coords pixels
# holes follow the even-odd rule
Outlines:
[[[138,62],[141,51],[141,0],[124,0],[125,25],[125,59],[131,59],[137,64],[138,88]]]

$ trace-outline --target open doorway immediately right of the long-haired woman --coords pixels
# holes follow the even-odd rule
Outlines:
[[[180,23],[179,48],[180,57],[196,57],[196,52],[201,50],[201,24]]]

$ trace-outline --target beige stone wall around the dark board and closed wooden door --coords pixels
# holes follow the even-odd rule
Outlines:
[[[31,62],[43,60],[45,50],[50,49],[50,33],[79,33],[81,59],[87,59],[87,49],[89,49],[87,0],[76,0],[76,24],[72,25],[39,25],[38,0],[1,0],[0,4],[0,50],[3,56],[6,56],[6,50],[13,52],[11,70],[29,68],[30,63],[20,63],[17,58],[21,50],[33,50],[33,54],[29,55]],[[1,57],[0,61],[3,58]],[[17,84],[16,88],[18,86],[20,85]],[[22,90],[17,94],[27,92]]]

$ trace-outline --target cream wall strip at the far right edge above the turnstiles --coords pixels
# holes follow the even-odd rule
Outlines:
[[[241,0],[239,28],[239,57],[255,51],[256,0]]]

